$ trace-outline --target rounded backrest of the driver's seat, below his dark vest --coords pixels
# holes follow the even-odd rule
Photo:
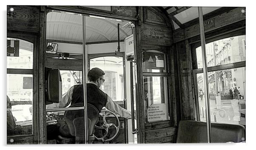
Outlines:
[[[72,105],[71,107],[81,106],[83,106],[83,103],[77,103]],[[84,137],[84,110],[66,111],[64,116],[71,135],[76,137]],[[93,135],[94,125],[98,122],[98,116],[99,111],[97,110],[97,108],[91,104],[87,104],[88,136]]]

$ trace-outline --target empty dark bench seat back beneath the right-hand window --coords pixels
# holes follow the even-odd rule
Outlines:
[[[211,142],[242,142],[245,127],[242,125],[211,123]],[[182,120],[179,122],[176,143],[207,143],[206,122]]]

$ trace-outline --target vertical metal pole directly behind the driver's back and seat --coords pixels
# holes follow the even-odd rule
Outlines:
[[[83,98],[85,107],[85,144],[88,144],[88,125],[87,125],[87,73],[88,73],[88,52],[85,45],[85,16],[82,16],[82,75],[83,75]]]

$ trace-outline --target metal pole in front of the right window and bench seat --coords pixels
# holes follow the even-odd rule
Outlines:
[[[204,72],[204,82],[205,82],[205,116],[206,116],[206,127],[207,127],[207,142],[211,142],[211,128],[210,128],[210,101],[208,92],[208,72],[207,72],[207,62],[205,53],[205,31],[204,31],[204,21],[203,21],[203,11],[202,7],[198,7],[199,14],[199,26],[200,26],[200,37],[202,46],[202,57],[203,57],[203,72]]]

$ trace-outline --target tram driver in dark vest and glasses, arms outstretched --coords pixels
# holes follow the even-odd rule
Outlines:
[[[104,93],[100,86],[104,83],[103,75],[105,73],[99,68],[93,68],[88,72],[88,83],[87,86],[87,103],[95,106],[99,112],[105,106],[108,110],[120,115],[126,119],[131,119],[131,112],[122,108],[115,103],[108,94]],[[76,103],[83,103],[83,85],[72,86],[68,92],[63,95],[62,102],[51,104],[47,108],[58,108],[66,107],[71,103],[71,106]],[[64,124],[59,128],[60,134],[63,136],[71,136],[69,133],[68,125]]]

